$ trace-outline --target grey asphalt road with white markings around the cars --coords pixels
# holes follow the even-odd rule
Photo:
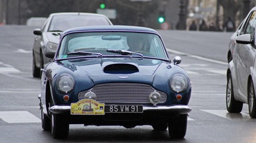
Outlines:
[[[150,126],[71,125],[66,140],[41,128],[40,80],[32,77],[33,28],[0,26],[0,142],[255,142],[248,105],[226,111],[226,52],[231,33],[159,31],[170,55],[181,56],[192,81],[188,129],[182,140]]]

